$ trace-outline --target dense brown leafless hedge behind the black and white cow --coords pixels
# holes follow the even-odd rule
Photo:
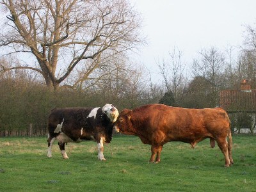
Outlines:
[[[113,94],[111,90],[49,90],[28,79],[0,79],[0,136],[45,135],[53,108],[100,107],[110,103],[122,109],[145,104],[138,98],[131,102],[131,95],[126,95],[130,98],[127,99]]]

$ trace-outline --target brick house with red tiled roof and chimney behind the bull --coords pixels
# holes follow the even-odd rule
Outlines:
[[[240,90],[221,90],[220,91],[220,107],[225,109],[230,116],[234,131],[238,132],[251,132],[255,131],[255,118],[256,118],[256,90],[251,89],[250,82],[244,79],[241,82]],[[251,127],[243,127],[246,125],[239,124],[244,121],[243,118],[250,120]],[[241,120],[242,118],[242,120]]]

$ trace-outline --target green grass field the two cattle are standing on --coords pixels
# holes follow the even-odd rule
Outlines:
[[[54,144],[49,158],[47,138],[0,138],[0,191],[256,191],[255,136],[233,136],[230,168],[209,140],[167,143],[158,164],[136,136],[114,136],[107,161],[94,142],[68,143],[70,159]]]

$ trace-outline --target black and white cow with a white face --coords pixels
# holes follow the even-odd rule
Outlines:
[[[112,140],[113,123],[119,113],[111,104],[103,108],[55,108],[48,121],[48,157],[52,157],[52,144],[58,140],[61,154],[68,159],[65,143],[96,141],[98,159],[106,160],[103,155],[103,143]]]

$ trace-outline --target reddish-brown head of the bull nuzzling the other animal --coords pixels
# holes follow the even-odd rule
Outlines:
[[[124,134],[132,134],[132,123],[131,123],[132,110],[124,109],[118,116],[114,129],[116,132],[122,132]]]

